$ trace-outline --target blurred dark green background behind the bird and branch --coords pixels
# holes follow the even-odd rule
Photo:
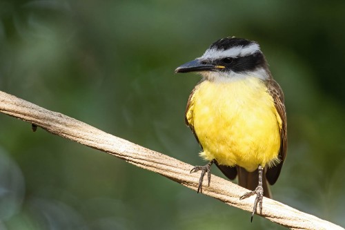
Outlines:
[[[345,226],[345,1],[1,0],[0,90],[204,164],[184,124],[200,77],[174,70],[233,35],[285,93],[275,200]],[[0,114],[0,229],[284,228]]]

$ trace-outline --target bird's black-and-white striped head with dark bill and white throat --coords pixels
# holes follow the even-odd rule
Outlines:
[[[179,66],[175,73],[196,72],[209,81],[233,81],[244,77],[269,79],[270,71],[259,44],[226,37],[215,41],[204,55]]]

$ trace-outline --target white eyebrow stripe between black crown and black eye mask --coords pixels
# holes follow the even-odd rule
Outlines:
[[[228,50],[217,50],[216,48],[211,48],[206,50],[201,59],[219,59],[224,57],[245,57],[248,55],[253,55],[253,53],[260,50],[259,44],[251,44],[250,46],[235,46]]]

